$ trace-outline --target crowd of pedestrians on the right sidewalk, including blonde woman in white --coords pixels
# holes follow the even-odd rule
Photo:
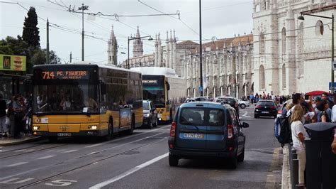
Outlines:
[[[304,171],[306,169],[306,145],[305,140],[310,137],[304,128],[304,124],[315,122],[336,122],[336,105],[328,99],[327,92],[322,97],[309,97],[304,99],[303,94],[292,95],[291,102],[282,110],[282,114],[291,119],[291,139],[293,148],[298,154],[298,178],[299,184],[305,184]],[[336,129],[334,131],[334,141],[332,142],[332,152],[336,154]]]

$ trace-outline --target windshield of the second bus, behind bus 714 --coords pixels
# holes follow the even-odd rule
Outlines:
[[[150,99],[156,107],[164,107],[164,87],[143,85],[143,99]]]

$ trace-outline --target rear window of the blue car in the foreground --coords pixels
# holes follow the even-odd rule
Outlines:
[[[223,109],[186,107],[181,109],[179,123],[195,126],[223,126]]]

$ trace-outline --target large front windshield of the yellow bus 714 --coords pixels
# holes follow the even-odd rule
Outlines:
[[[98,113],[96,85],[35,85],[33,111],[37,114]]]

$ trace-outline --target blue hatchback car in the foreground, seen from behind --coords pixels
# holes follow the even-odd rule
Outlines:
[[[244,161],[245,135],[235,109],[228,104],[190,102],[175,114],[168,139],[169,166],[180,158],[225,158],[231,168]]]

